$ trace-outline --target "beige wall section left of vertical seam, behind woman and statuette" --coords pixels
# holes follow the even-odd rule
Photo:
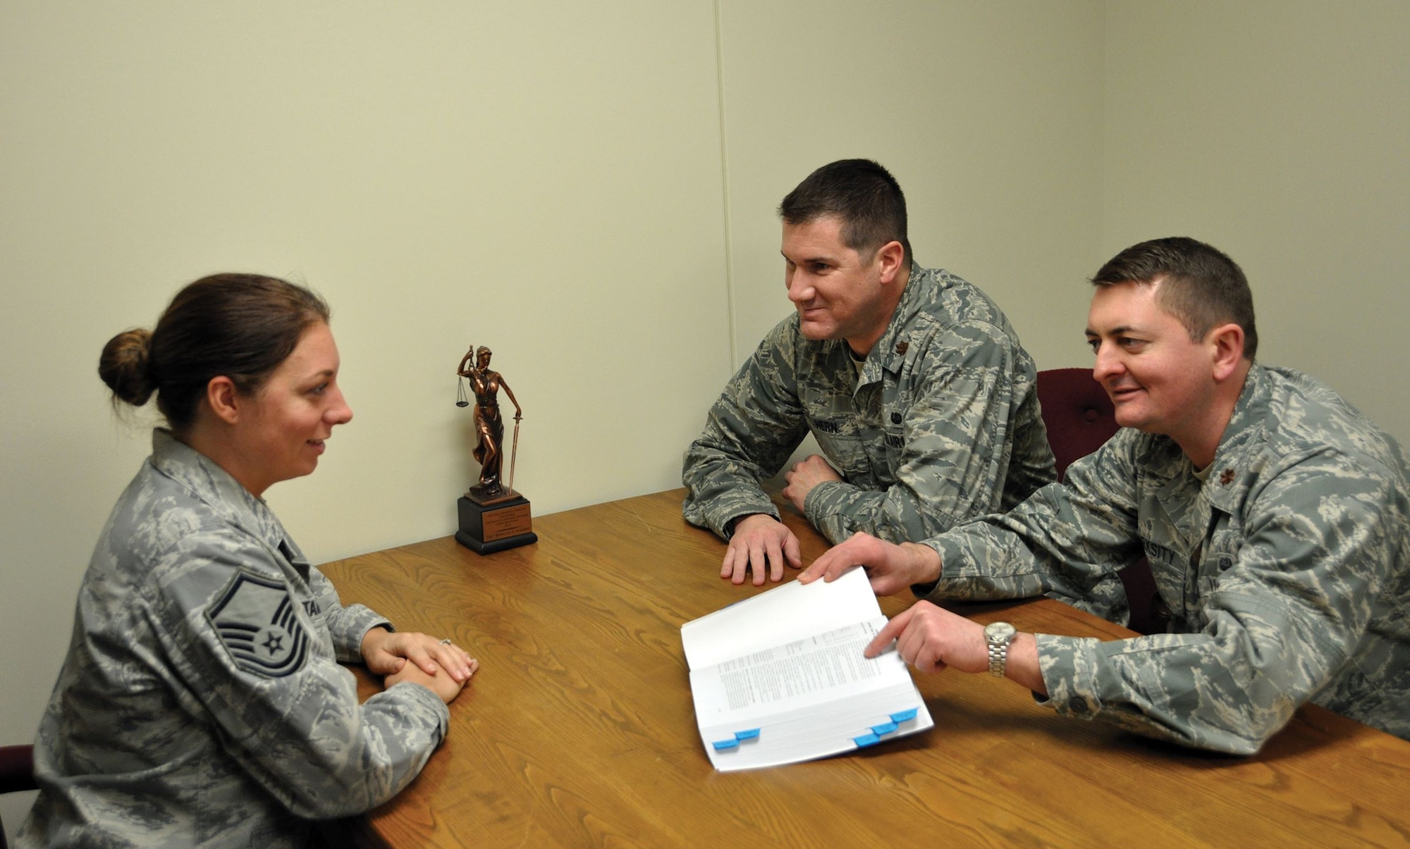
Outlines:
[[[0,742],[32,738],[148,451],[99,350],[203,274],[333,303],[355,419],[269,492],[314,561],[454,529],[472,341],[525,405],[537,512],[678,485],[729,374],[713,21],[709,0],[0,4]]]

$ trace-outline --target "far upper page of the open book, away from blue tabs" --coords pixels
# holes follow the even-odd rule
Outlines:
[[[830,584],[790,581],[687,622],[681,643],[685,663],[697,670],[878,616],[867,574],[854,567]]]

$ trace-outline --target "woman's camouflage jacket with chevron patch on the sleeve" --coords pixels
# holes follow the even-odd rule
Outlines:
[[[376,625],[262,501],[155,432],[83,577],[20,845],[303,846],[307,819],[386,801],[448,712],[409,683],[358,705],[338,661]]]

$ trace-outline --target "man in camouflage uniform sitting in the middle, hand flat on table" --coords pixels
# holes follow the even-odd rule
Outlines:
[[[809,432],[828,460],[795,464],[784,496],[833,542],[922,539],[1056,478],[1032,358],[988,296],[912,264],[905,197],[884,168],[825,165],[778,213],[798,312],[685,453],[685,519],[729,540],[721,577],[752,570],[763,584],[801,566],[760,481]]]

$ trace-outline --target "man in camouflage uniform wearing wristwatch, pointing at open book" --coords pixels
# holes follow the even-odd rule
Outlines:
[[[997,632],[925,601],[891,639],[922,671],[1004,674],[1059,714],[1253,753],[1311,701],[1410,739],[1410,485],[1393,439],[1331,389],[1253,362],[1242,271],[1210,245],[1128,248],[1093,278],[1094,377],[1125,429],[1008,515],[924,546],[859,535],[801,580],[870,567],[877,592],[1056,592],[1090,608],[1145,556],[1170,632],[1117,642]],[[990,626],[994,629],[994,626]]]

